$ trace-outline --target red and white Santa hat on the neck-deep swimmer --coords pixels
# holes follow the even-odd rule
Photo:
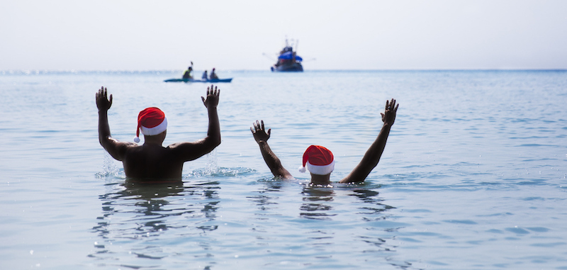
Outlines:
[[[303,166],[299,167],[299,171],[305,172],[305,166],[312,174],[330,174],[335,169],[335,157],[327,148],[311,145],[303,153]]]

